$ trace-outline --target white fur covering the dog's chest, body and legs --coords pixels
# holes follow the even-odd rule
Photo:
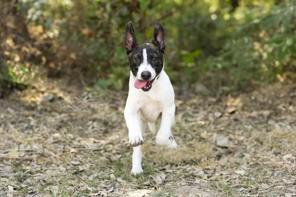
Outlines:
[[[146,49],[144,50],[146,51]],[[145,52],[143,51],[143,53]],[[140,72],[140,69],[138,72]],[[175,121],[175,94],[169,77],[162,70],[159,78],[154,80],[151,89],[147,92],[135,88],[135,80],[133,74],[130,73],[129,93],[124,111],[124,118],[129,131],[129,142],[132,144],[143,140],[147,122],[149,129],[153,132],[155,130],[153,122],[161,114],[161,124],[156,135],[156,144],[177,148],[178,145],[175,139],[171,138],[173,137],[171,127]],[[140,145],[134,147],[132,174],[143,172],[141,162],[142,151]]]

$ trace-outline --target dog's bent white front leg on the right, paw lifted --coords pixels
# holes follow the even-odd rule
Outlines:
[[[175,121],[175,104],[164,108],[161,117],[161,124],[156,135],[156,144],[177,148],[178,145],[173,137],[171,127]]]

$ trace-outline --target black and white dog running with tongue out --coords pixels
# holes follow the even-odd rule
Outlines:
[[[147,124],[155,133],[154,122],[161,117],[156,144],[170,148],[178,146],[171,130],[175,121],[175,94],[163,70],[165,42],[160,23],[154,24],[151,43],[140,44],[130,21],[125,28],[124,48],[131,69],[124,118],[130,145],[134,147],[131,173],[139,174],[143,172],[141,145]]]

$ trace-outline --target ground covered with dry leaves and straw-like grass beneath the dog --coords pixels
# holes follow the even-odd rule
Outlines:
[[[296,85],[176,90],[179,148],[143,144],[130,174],[127,92],[38,84],[0,100],[0,196],[296,196]]]

